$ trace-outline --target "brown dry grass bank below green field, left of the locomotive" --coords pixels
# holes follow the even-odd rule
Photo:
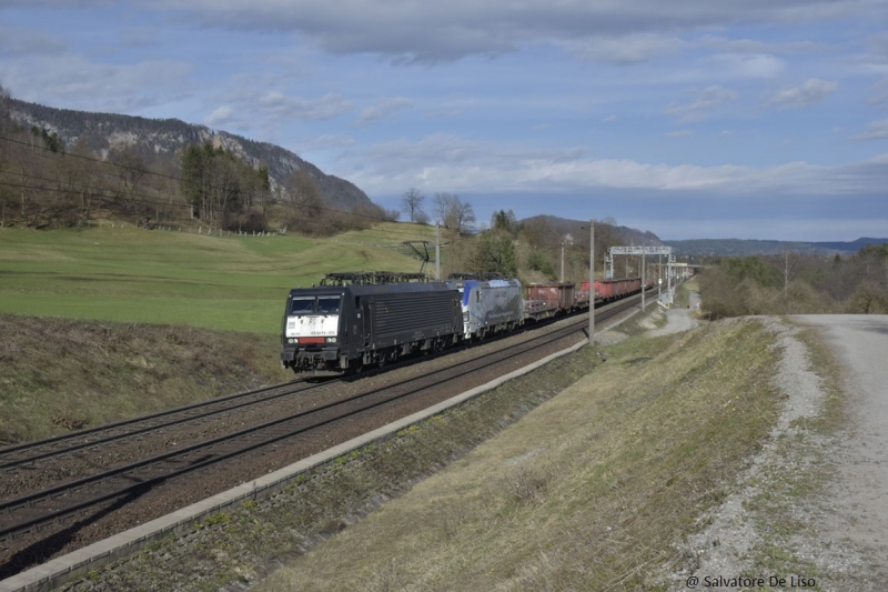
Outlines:
[[[0,446],[292,377],[272,335],[0,315]]]

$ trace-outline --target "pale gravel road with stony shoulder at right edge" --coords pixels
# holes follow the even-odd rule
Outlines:
[[[778,335],[783,412],[735,492],[699,516],[699,534],[680,543],[683,564],[667,566],[668,586],[886,590],[888,315],[761,320]],[[797,323],[821,328],[842,367],[848,422],[838,430],[818,428],[829,389],[797,339]]]

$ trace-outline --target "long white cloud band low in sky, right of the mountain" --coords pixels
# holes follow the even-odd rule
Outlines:
[[[531,149],[435,134],[418,142],[397,140],[346,151],[337,161],[344,175],[371,194],[397,188],[473,193],[552,192],[588,189],[686,191],[739,195],[750,191],[786,194],[856,194],[884,191],[888,154],[850,165],[806,162],[754,168],[734,164],[653,164],[591,160],[586,151]]]

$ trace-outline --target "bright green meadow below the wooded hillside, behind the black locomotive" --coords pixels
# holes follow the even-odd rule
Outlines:
[[[2,229],[0,312],[276,333],[291,288],[335,271],[418,271],[385,244],[421,239],[434,240],[434,228],[389,223],[334,239]]]

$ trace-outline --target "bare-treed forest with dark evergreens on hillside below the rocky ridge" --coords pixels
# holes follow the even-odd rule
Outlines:
[[[246,162],[212,142],[189,144],[172,159],[147,157],[125,141],[101,148],[109,142],[89,134],[68,146],[54,131],[13,120],[11,106],[0,87],[3,227],[77,228],[115,220],[145,228],[195,223],[329,235],[398,215],[369,201],[331,207],[313,168],[293,170],[278,183],[266,164]]]

